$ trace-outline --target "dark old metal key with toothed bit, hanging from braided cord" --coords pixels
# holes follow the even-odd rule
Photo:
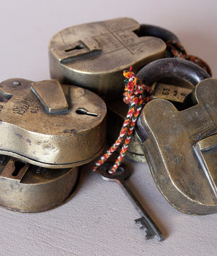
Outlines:
[[[133,206],[136,208],[138,213],[141,215],[141,218],[135,219],[135,223],[141,224],[141,229],[146,230],[146,240],[154,238],[155,236],[159,241],[165,240],[164,236],[160,232],[157,225],[151,219],[146,210],[141,206],[141,203],[138,202],[138,199],[133,195],[133,192],[127,187],[125,180],[130,177],[129,168],[125,167],[125,165],[121,165],[117,171],[113,174],[108,173],[108,170],[111,168],[110,163],[106,163],[98,168],[98,174],[101,178],[106,181],[115,181],[120,185],[122,190],[125,192],[127,197],[133,203]]]

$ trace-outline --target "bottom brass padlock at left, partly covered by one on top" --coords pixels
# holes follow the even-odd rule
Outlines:
[[[0,206],[13,211],[47,211],[74,193],[79,167],[47,169],[0,155]]]

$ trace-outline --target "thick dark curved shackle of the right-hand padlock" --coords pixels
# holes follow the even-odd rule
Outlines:
[[[143,67],[136,76],[147,86],[152,86],[153,83],[163,78],[183,78],[197,86],[201,80],[210,78],[210,75],[197,64],[175,58],[152,61]]]

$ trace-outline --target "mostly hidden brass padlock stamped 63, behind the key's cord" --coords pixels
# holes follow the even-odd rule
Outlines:
[[[186,108],[184,100],[192,93],[193,89],[194,86],[187,80],[181,78],[167,78],[160,80],[151,86],[151,97],[152,99],[168,99],[170,102],[173,102],[173,105],[175,105],[176,108],[181,110]],[[108,145],[111,145],[119,136],[119,131],[125,121],[129,106],[122,100],[118,100],[115,102],[108,102],[107,108],[107,142]],[[130,140],[125,156],[134,161],[146,162],[146,157],[143,148],[141,147],[141,143],[138,141],[136,132],[133,133],[133,137]]]

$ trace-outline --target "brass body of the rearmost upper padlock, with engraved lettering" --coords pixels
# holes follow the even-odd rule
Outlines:
[[[50,40],[50,75],[64,83],[95,91],[103,99],[122,97],[122,72],[135,72],[162,58],[166,45],[157,37],[140,36],[140,24],[116,18],[71,26]]]

